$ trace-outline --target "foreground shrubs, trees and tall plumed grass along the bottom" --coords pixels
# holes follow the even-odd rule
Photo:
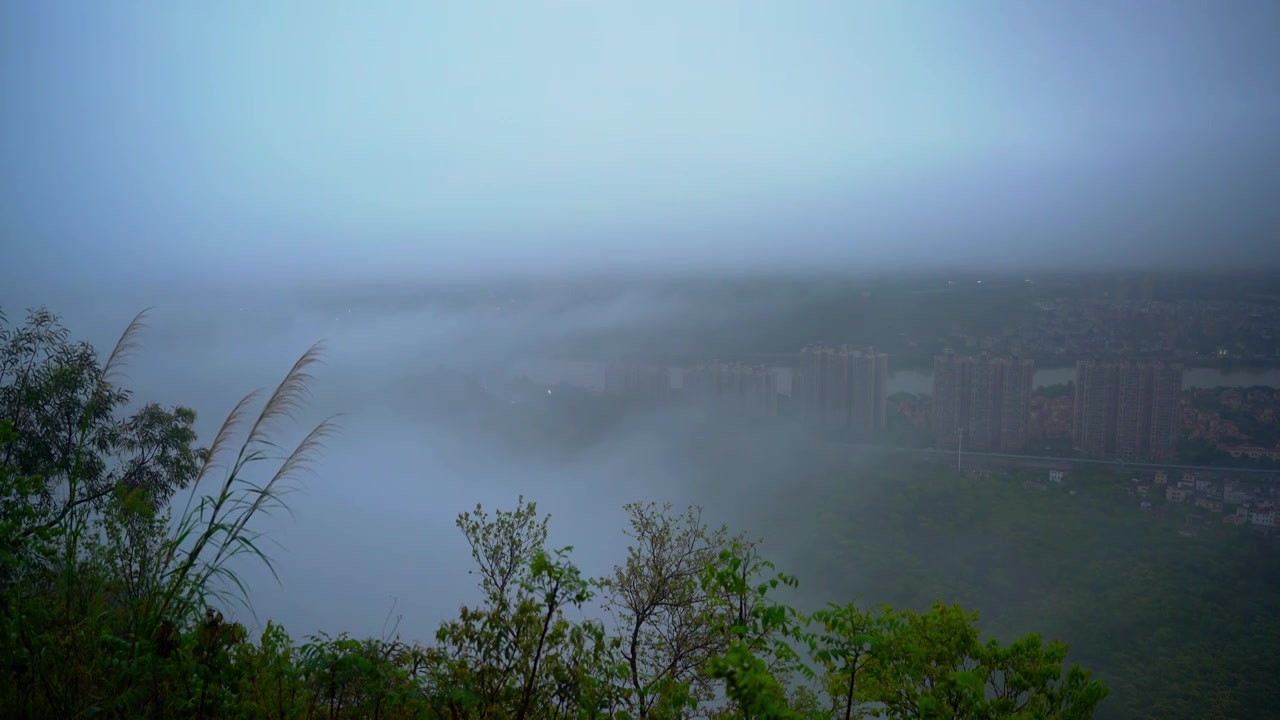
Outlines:
[[[329,432],[280,450],[316,355],[197,448],[192,410],[131,413],[113,382],[138,328],[101,364],[45,311],[0,334],[6,716],[1083,719],[1106,694],[1064,644],[984,642],[957,606],[800,614],[759,543],[644,503],[596,579],[532,503],[463,512],[481,601],[430,646],[250,638],[220,611],[248,593],[228,560],[266,561],[257,520]]]

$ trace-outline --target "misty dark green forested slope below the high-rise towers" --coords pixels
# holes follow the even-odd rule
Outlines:
[[[1065,488],[1025,487],[1028,471],[961,478],[900,457],[856,470],[832,457],[815,473],[796,502],[824,509],[804,536],[818,550],[794,566],[819,596],[902,607],[946,597],[980,611],[997,638],[1028,628],[1062,638],[1112,689],[1098,717],[1267,717],[1280,707],[1274,538],[1162,497],[1142,510],[1128,475],[1106,470]]]

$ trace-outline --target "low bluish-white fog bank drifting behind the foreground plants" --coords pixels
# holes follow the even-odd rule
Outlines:
[[[698,315],[691,305],[643,290],[507,309],[488,300],[445,306],[401,299],[388,307],[334,297],[349,300],[334,304],[349,313],[335,314],[289,293],[187,297],[148,313],[142,347],[125,370],[140,401],[195,407],[205,442],[239,397],[273,387],[324,340],[324,363],[292,437],[333,414],[340,429],[294,483],[292,518],[261,519],[280,583],[252,562],[242,571],[262,621],[376,634],[394,603],[406,637],[428,639],[440,619],[475,598],[468,550],[453,520],[477,502],[492,510],[513,507],[520,496],[536,501],[553,515],[552,542],[575,546],[576,561],[593,574],[625,559],[622,505],[630,501],[705,503],[716,521],[771,534],[756,512],[786,492],[787,447],[796,442],[786,432],[744,425],[722,460],[705,452],[695,459],[690,443],[709,427],[704,413],[658,409],[611,420],[561,452],[513,443],[511,436],[527,436],[527,428],[495,423],[448,395],[449,383],[474,380],[507,402],[499,386],[520,374],[598,384],[598,364],[564,363],[556,348],[613,328],[687,322]],[[122,302],[51,309],[102,352],[133,310]],[[14,320],[15,310],[6,306]]]

